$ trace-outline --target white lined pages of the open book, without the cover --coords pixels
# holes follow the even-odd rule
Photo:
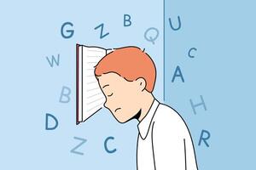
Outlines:
[[[105,102],[105,96],[94,75],[96,64],[111,50],[98,47],[80,46],[79,54],[81,54],[81,84],[80,101],[82,114],[79,122],[84,122],[96,111],[99,111]]]

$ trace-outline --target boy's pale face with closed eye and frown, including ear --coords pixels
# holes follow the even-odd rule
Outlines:
[[[111,111],[118,122],[127,122],[140,111],[141,82],[126,81],[113,72],[102,74],[97,78],[106,97],[104,106]]]

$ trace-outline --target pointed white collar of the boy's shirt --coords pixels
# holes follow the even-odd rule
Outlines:
[[[142,139],[146,139],[146,137],[148,135],[148,130],[149,130],[150,124],[152,122],[154,113],[157,110],[158,105],[159,105],[159,101],[154,99],[153,104],[150,106],[150,109],[149,109],[147,115],[137,125],[137,128],[139,130],[139,133],[140,133]]]

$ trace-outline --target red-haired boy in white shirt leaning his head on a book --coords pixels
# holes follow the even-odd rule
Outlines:
[[[196,170],[189,129],[179,114],[152,94],[154,61],[137,47],[115,49],[96,65],[104,106],[118,122],[138,120],[138,170]]]

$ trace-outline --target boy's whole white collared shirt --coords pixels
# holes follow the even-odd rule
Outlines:
[[[171,107],[154,99],[138,130],[137,170],[197,170],[189,129]]]

